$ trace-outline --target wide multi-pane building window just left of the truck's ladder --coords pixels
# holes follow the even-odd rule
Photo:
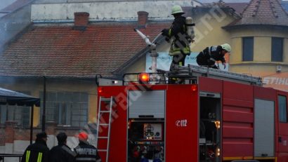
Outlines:
[[[88,97],[86,93],[47,92],[46,121],[65,126],[85,126],[88,121]],[[43,107],[42,99],[41,105]]]

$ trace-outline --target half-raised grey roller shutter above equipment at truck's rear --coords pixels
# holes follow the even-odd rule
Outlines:
[[[129,90],[129,118],[164,118],[165,95],[165,90]]]

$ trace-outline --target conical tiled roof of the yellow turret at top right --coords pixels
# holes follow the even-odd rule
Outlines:
[[[228,26],[233,25],[288,26],[288,15],[278,0],[251,0],[242,18]]]

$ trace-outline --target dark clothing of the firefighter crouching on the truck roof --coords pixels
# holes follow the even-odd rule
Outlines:
[[[221,54],[221,46],[210,46],[197,55],[197,64],[201,66],[216,67],[215,62],[225,63],[224,55]]]

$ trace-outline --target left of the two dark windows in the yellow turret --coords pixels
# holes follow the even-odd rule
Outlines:
[[[242,38],[242,61],[253,61],[254,54],[254,38]]]

